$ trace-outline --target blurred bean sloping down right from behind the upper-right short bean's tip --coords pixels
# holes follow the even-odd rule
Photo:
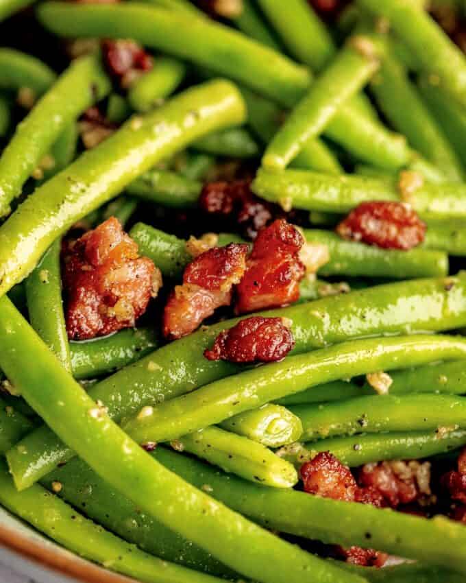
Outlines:
[[[460,161],[406,71],[391,56],[389,47],[382,51],[382,64],[371,82],[371,91],[393,128],[437,165],[448,180],[461,182],[463,169]]]

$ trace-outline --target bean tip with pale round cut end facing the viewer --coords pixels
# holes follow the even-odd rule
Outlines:
[[[302,435],[299,418],[285,407],[271,403],[226,419],[220,427],[267,447],[293,443]]]

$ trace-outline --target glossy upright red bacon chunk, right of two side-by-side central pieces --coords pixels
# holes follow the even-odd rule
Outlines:
[[[237,287],[236,313],[281,307],[299,299],[299,282],[306,268],[299,259],[304,239],[284,219],[258,234]]]

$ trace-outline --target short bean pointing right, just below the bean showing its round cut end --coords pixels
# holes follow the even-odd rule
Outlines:
[[[293,464],[282,460],[264,445],[219,427],[206,427],[182,436],[173,447],[263,486],[293,488],[297,484]]]

